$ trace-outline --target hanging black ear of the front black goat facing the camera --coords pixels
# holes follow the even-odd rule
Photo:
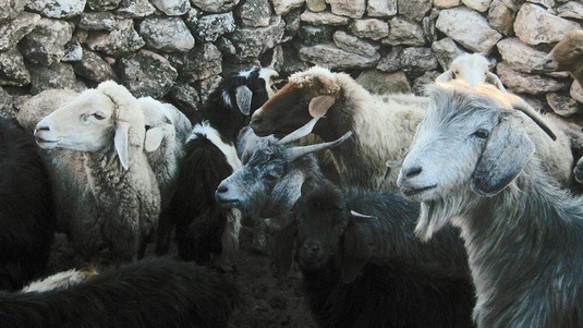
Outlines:
[[[352,220],[349,220],[342,240],[340,279],[343,283],[351,283],[368,263],[373,251],[356,223],[352,222]]]

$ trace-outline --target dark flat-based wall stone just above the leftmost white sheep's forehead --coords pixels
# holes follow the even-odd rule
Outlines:
[[[83,83],[75,78],[75,73],[71,64],[32,64],[28,69],[31,71],[31,93],[34,95],[53,88],[76,92],[86,88]]]

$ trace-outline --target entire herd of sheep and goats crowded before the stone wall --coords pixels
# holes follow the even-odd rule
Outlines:
[[[582,47],[545,65],[582,83]],[[0,118],[0,326],[227,327],[243,216],[320,327],[583,326],[572,131],[484,56],[423,97],[278,78],[228,75],[191,118],[112,81]],[[97,270],[45,277],[54,232]]]

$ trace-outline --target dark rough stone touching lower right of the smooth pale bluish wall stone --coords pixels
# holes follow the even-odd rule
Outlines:
[[[186,82],[208,78],[222,72],[222,54],[217,47],[207,42],[197,45],[190,52],[173,53],[169,60]]]

